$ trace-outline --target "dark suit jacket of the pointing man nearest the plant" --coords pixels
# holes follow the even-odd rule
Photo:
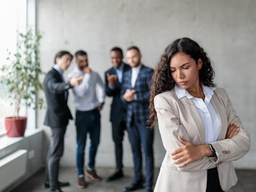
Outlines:
[[[47,102],[44,125],[49,127],[66,127],[72,115],[67,106],[65,92],[70,85],[63,82],[59,72],[52,68],[44,78],[44,92]]]

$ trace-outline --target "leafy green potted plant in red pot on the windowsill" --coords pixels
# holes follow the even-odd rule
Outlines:
[[[5,118],[6,134],[10,137],[24,136],[27,116],[20,116],[20,106],[41,108],[43,100],[36,93],[43,89],[39,76],[42,74],[39,59],[39,43],[42,36],[29,29],[18,33],[17,51],[8,52],[8,64],[1,67],[0,86],[3,96],[15,106],[14,116]]]

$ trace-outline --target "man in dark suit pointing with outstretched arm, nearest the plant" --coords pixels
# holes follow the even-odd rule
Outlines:
[[[68,89],[77,86],[83,77],[72,77],[65,83],[63,72],[67,70],[72,61],[72,54],[60,51],[54,58],[54,67],[47,72],[44,78],[44,92],[47,102],[44,125],[51,127],[51,141],[47,154],[45,188],[50,192],[61,192],[61,186],[69,186],[69,182],[58,180],[59,162],[64,150],[64,135],[68,120],[72,115],[67,106]]]

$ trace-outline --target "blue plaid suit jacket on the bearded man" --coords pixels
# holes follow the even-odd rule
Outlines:
[[[135,90],[137,99],[127,103],[127,126],[131,126],[132,116],[135,124],[147,125],[149,116],[148,111],[148,100],[149,100],[149,88],[152,81],[152,74],[154,70],[149,67],[141,66],[138,78],[134,88],[131,87],[132,70],[128,70],[124,74],[121,99],[126,102],[123,98],[125,90]]]

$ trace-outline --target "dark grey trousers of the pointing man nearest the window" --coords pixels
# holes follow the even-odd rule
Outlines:
[[[64,135],[66,127],[51,127],[51,141],[47,154],[46,181],[49,181],[51,189],[60,189],[58,184],[60,158],[64,151]]]

